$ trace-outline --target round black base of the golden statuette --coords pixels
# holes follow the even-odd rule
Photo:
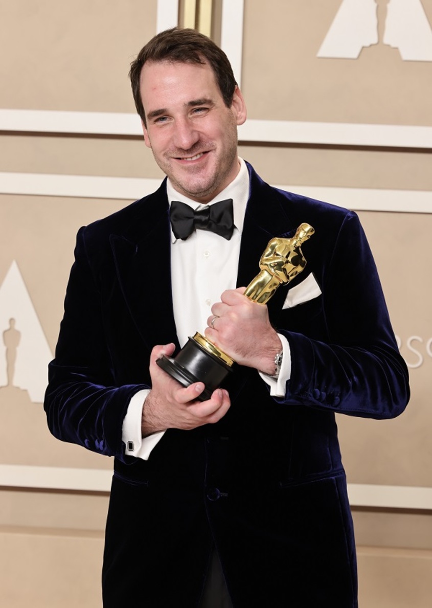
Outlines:
[[[174,359],[162,355],[156,363],[184,387],[194,382],[204,382],[205,389],[197,397],[199,401],[210,399],[211,393],[218,389],[232,371],[230,365],[209,353],[191,337]]]

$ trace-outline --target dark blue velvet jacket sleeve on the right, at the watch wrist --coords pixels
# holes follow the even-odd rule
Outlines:
[[[322,311],[315,331],[278,328],[290,345],[287,404],[352,416],[394,418],[410,397],[374,259],[358,217],[348,212],[320,277]],[[300,308],[300,307],[299,307]]]

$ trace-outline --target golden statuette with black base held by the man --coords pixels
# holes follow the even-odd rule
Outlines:
[[[249,283],[244,295],[253,302],[266,304],[279,285],[289,283],[303,271],[306,260],[301,252],[301,244],[314,232],[312,226],[303,223],[292,238],[272,238],[259,260],[260,272]],[[234,363],[199,332],[189,337],[175,358],[162,355],[157,359],[157,365],[184,387],[194,382],[204,382],[205,389],[198,397],[200,401],[210,399],[211,393],[233,371]]]

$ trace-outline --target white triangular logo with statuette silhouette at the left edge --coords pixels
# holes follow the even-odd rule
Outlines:
[[[14,260],[0,286],[0,387],[27,390],[42,403],[52,353]]]

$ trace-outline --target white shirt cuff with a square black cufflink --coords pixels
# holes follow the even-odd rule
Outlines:
[[[148,437],[142,437],[141,423],[143,406],[150,389],[139,390],[129,401],[128,411],[123,418],[122,440],[126,445],[126,456],[148,460],[150,452],[165,433],[161,430]]]

